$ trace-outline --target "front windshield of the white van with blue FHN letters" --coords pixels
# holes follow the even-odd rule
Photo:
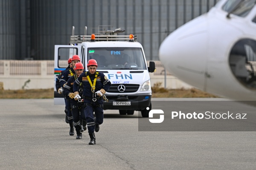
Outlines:
[[[87,61],[95,59],[98,70],[146,70],[141,48],[105,47],[88,48]]]

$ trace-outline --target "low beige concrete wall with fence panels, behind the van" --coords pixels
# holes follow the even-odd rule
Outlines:
[[[162,82],[161,87],[166,85],[169,89],[192,88],[169,73],[165,80],[164,68],[159,61],[156,66],[157,72],[150,73],[151,86]],[[0,60],[0,82],[3,82],[4,90],[54,88],[54,61]]]

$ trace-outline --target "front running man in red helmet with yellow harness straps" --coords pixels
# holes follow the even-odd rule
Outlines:
[[[89,144],[96,144],[95,132],[99,131],[99,125],[103,123],[103,99],[106,101],[104,95],[111,87],[111,82],[108,78],[98,71],[98,65],[95,59],[90,59],[87,62],[88,71],[82,73],[74,82],[73,91],[75,96],[79,96],[78,88],[82,83],[84,85],[83,98],[84,98],[84,113],[87,120],[87,129],[90,136]],[[95,112],[96,118],[93,116]]]

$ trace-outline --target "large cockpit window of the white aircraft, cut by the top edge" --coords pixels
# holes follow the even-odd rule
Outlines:
[[[255,3],[256,0],[228,0],[222,9],[239,17],[245,17]]]

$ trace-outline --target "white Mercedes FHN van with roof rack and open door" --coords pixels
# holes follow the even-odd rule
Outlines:
[[[111,34],[116,34],[115,30]],[[111,81],[104,110],[119,110],[121,115],[141,111],[143,117],[148,117],[152,94],[148,72],[154,72],[155,63],[149,62],[147,66],[143,47],[135,41],[133,35],[72,35],[70,45],[55,45],[55,80],[73,55],[80,56],[84,68],[89,59],[95,59],[97,71]],[[54,104],[64,105],[63,94],[58,94],[56,89],[54,93]]]

